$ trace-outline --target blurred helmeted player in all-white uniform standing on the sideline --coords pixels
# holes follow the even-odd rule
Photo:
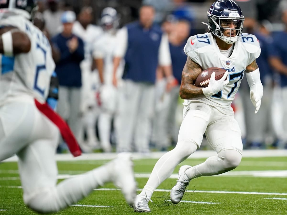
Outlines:
[[[118,90],[113,85],[113,58],[114,51],[119,41],[116,38],[119,18],[117,11],[112,7],[106,7],[102,11],[101,25],[104,34],[96,41],[94,46],[94,61],[99,71],[100,87],[100,115],[98,118],[98,132],[101,147],[104,152],[111,152],[111,124],[115,116],[114,128],[117,130]],[[120,88],[123,75],[123,62],[117,71],[117,83]],[[116,141],[117,142],[117,141]]]

